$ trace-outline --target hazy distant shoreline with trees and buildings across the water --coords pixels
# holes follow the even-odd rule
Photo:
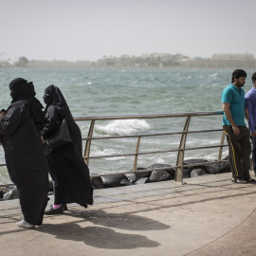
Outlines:
[[[212,58],[189,58],[182,54],[159,54],[121,57],[102,57],[95,62],[89,61],[28,61],[20,57],[18,61],[10,64],[1,62],[0,67],[32,67],[32,68],[251,68],[256,69],[256,59],[252,54],[213,54]]]

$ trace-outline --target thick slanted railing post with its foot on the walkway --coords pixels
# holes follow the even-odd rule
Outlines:
[[[175,181],[183,183],[183,160],[185,155],[185,146],[186,146],[186,139],[187,134],[190,126],[191,116],[189,116],[186,120],[184,125],[183,134],[180,138],[179,143],[179,151],[177,154],[177,161],[176,161],[176,172],[175,172]]]

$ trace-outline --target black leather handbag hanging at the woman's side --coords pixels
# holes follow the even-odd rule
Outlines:
[[[71,142],[72,139],[69,134],[67,120],[63,119],[58,131],[52,136],[44,138],[43,148],[45,154],[48,155],[50,152],[54,152]]]

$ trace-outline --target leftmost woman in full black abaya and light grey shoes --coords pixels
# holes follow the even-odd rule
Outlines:
[[[23,220],[20,228],[42,225],[47,204],[48,165],[40,130],[43,106],[34,96],[34,85],[22,78],[9,83],[12,98],[1,114],[0,129],[9,177],[19,192]]]

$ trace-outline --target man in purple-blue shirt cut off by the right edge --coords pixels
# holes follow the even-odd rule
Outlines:
[[[256,175],[256,73],[251,77],[253,86],[246,94],[246,107],[248,109],[249,118],[248,126],[250,138],[252,142],[252,163],[253,171]]]

